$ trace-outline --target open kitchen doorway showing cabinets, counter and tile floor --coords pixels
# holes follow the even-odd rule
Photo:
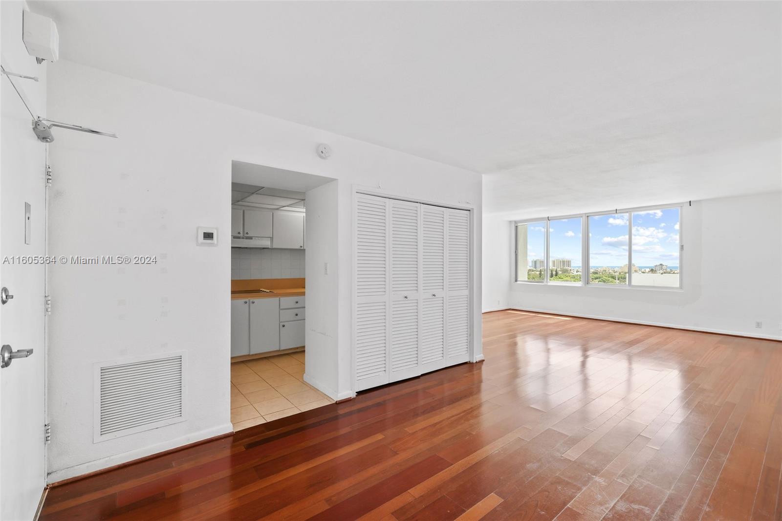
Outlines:
[[[308,194],[332,178],[252,163],[231,167],[231,423],[247,429],[334,403],[307,381],[318,306],[307,303]],[[333,197],[336,213],[336,198]],[[317,205],[322,207],[323,205]],[[320,220],[320,219],[318,219]],[[319,239],[311,240],[314,255]],[[312,265],[312,263],[310,263]],[[328,268],[319,277],[328,276]],[[315,356],[314,358],[317,358]],[[310,372],[313,372],[310,370]]]

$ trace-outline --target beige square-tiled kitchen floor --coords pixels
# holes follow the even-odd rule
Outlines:
[[[234,430],[333,403],[304,383],[304,351],[231,363]]]

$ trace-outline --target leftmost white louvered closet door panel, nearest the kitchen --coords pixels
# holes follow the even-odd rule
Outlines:
[[[356,390],[389,381],[389,199],[357,194]]]

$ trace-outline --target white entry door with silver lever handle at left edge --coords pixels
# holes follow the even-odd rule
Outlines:
[[[3,66],[43,76],[43,66],[36,66],[20,47],[21,5],[2,2]],[[19,78],[15,83],[36,109],[44,110],[43,84]],[[45,253],[46,150],[7,77],[0,77],[0,96],[0,287],[13,295],[0,305],[0,344],[33,350],[0,368],[0,519],[33,519],[45,486],[45,273],[43,264],[20,262]]]

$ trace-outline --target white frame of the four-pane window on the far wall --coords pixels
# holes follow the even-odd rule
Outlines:
[[[556,215],[547,217],[536,217],[532,219],[519,219],[513,221],[513,241],[514,241],[514,273],[515,283],[518,284],[538,284],[545,286],[569,286],[569,287],[590,287],[590,288],[620,288],[620,289],[640,289],[642,291],[682,291],[684,288],[684,206],[688,203],[668,203],[655,204],[647,207],[615,208],[613,210],[604,210],[596,212],[586,212],[583,214]],[[689,203],[691,206],[691,203]],[[633,213],[649,210],[670,210],[676,208],[679,210],[679,286],[633,286]],[[590,231],[589,217],[596,215],[614,215],[627,214],[627,283],[626,284],[601,284],[590,282],[588,274],[592,271],[590,265]],[[551,221],[559,219],[581,218],[581,282],[558,282],[549,280],[551,264]],[[543,263],[546,268],[543,270],[543,280],[518,280],[518,225],[529,225],[530,223],[544,222],[546,224],[543,240],[545,241],[545,255]]]

